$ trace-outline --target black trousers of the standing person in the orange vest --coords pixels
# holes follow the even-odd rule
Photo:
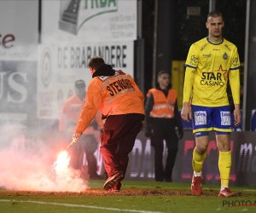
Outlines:
[[[150,137],[154,147],[154,177],[155,181],[172,181],[172,169],[177,155],[177,134],[170,126],[154,126],[154,134]],[[166,140],[166,167],[163,164],[164,140]]]

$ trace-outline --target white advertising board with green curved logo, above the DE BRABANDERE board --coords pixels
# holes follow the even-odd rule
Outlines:
[[[137,0],[42,1],[42,42],[137,39]]]

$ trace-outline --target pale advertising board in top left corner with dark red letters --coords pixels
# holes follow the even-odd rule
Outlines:
[[[0,60],[37,60],[38,0],[0,1]]]

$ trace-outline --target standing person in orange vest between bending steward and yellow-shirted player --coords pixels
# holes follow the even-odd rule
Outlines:
[[[156,88],[149,89],[147,94],[145,136],[150,137],[151,146],[154,147],[155,181],[172,181],[177,143],[183,138],[183,125],[177,109],[177,91],[171,88],[169,73],[161,71],[158,73]],[[167,147],[165,168],[163,165],[164,140]]]

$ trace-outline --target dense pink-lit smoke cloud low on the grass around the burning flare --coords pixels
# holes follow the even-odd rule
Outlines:
[[[0,187],[8,190],[80,192],[88,188],[69,157],[60,137],[44,141],[21,124],[3,125],[0,143]],[[65,145],[65,144],[64,144]]]

